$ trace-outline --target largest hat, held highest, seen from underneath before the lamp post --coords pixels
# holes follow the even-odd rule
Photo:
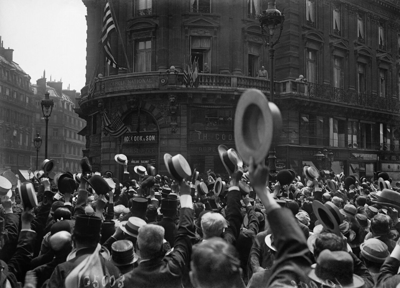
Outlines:
[[[253,158],[254,164],[258,164],[267,156],[274,132],[277,132],[274,120],[267,97],[260,90],[248,89],[242,94],[236,105],[234,135],[244,162],[249,163]]]

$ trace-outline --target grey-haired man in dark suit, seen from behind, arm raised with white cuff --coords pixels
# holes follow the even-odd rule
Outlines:
[[[182,274],[190,261],[194,235],[194,210],[190,186],[180,184],[180,215],[174,249],[162,256],[164,228],[140,227],[137,246],[142,260],[133,271],[124,274],[124,287],[182,287]]]

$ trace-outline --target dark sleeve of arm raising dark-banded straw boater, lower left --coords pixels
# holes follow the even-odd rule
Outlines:
[[[21,231],[20,237],[18,238],[17,250],[7,263],[8,269],[14,273],[18,281],[22,281],[26,271],[29,270],[30,261],[33,257],[35,239],[35,232]]]

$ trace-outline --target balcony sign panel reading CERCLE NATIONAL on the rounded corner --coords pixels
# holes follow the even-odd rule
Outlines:
[[[115,79],[104,81],[105,92],[136,90],[136,89],[154,89],[158,88],[158,76],[136,76],[124,79]]]

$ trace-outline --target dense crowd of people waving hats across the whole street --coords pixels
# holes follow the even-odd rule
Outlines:
[[[168,176],[128,172],[122,154],[122,179],[87,158],[53,179],[0,176],[0,287],[399,287],[400,183],[386,172],[229,159],[225,179],[183,156]]]

